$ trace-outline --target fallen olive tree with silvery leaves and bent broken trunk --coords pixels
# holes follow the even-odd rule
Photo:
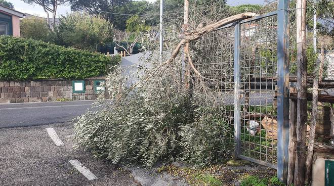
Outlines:
[[[208,85],[222,82],[201,75],[188,49],[185,55],[192,73],[186,88],[178,54],[186,43],[252,16],[238,14],[179,35],[181,41],[163,63],[152,53],[146,59],[149,68],[143,65],[124,75],[126,69],[115,67],[105,83],[110,100],[101,98],[74,124],[77,146],[112,163],[145,167],[176,159],[205,166],[230,156],[230,121],[221,92]]]

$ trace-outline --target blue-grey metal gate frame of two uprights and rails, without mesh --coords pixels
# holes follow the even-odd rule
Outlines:
[[[277,169],[280,181],[286,182],[288,164],[288,141],[289,141],[289,29],[288,29],[288,0],[279,0],[277,11],[256,16],[238,23],[232,23],[222,28],[235,26],[234,36],[234,136],[235,157],[247,159],[259,164]],[[277,15],[277,166],[253,158],[240,155],[240,24],[258,20],[264,17]],[[220,29],[222,29],[220,28]]]

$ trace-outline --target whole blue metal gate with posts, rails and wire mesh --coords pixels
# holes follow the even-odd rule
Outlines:
[[[286,180],[288,158],[288,1],[278,10],[204,35],[195,60],[220,94],[235,141],[235,156],[277,169]],[[216,73],[212,73],[215,71]],[[205,74],[205,72],[211,72]],[[214,76],[214,77],[212,77]]]

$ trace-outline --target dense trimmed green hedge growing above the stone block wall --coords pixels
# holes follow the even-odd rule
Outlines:
[[[33,39],[0,36],[0,80],[99,77],[119,62],[120,56],[107,57]]]

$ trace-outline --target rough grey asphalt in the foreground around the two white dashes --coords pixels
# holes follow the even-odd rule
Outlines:
[[[63,143],[57,146],[48,134],[53,128]],[[95,159],[91,152],[73,148],[73,124],[0,129],[0,185],[55,186],[136,186],[129,171],[107,160]],[[70,161],[85,166],[95,179],[88,179]],[[80,167],[81,168],[81,167]]]

